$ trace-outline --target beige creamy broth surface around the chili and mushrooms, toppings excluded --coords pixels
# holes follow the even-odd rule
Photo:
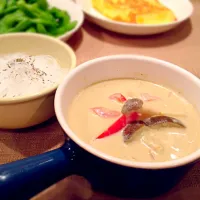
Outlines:
[[[121,112],[123,103],[109,98],[114,93],[121,93],[127,99],[142,99],[143,94],[158,97],[143,101],[142,110],[174,117],[186,128],[171,125],[145,126],[136,131],[129,142],[124,142],[123,130],[96,139],[119,117],[103,118],[92,112],[91,108],[104,107]],[[195,107],[178,92],[143,80],[108,80],[85,88],[74,98],[66,120],[81,140],[103,153],[125,160],[169,161],[187,156],[199,148],[200,117]]]

